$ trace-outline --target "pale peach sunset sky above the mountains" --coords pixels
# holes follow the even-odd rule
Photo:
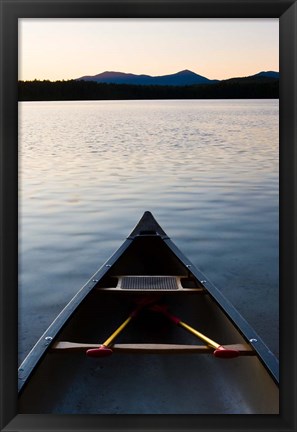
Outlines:
[[[278,19],[19,19],[19,80],[279,71]]]

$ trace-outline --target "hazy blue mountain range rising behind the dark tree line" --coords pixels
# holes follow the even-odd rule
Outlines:
[[[255,75],[241,77],[245,79],[279,79],[279,72],[263,71]],[[231,78],[235,79],[235,78]],[[238,79],[238,77],[236,78]],[[198,84],[217,84],[228,80],[210,80],[202,75],[198,75],[188,69],[183,71],[161,76],[150,75],[135,75],[124,72],[106,71],[97,75],[86,75],[77,78],[76,81],[94,81],[105,84],[129,84],[129,85],[144,85],[144,86],[191,86]]]

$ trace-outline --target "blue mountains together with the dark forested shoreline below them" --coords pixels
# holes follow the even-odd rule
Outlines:
[[[19,81],[18,97],[20,101],[278,99],[279,73],[259,72],[219,81],[188,70],[159,77],[103,72],[67,81]]]

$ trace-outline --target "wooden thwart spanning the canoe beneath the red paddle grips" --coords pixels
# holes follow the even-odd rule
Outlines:
[[[224,345],[225,348],[237,350],[241,356],[255,355],[255,351],[248,344]],[[88,349],[98,348],[98,344],[76,342],[56,342],[51,347],[52,352],[85,352]],[[206,345],[180,345],[180,344],[114,344],[113,352],[143,353],[143,354],[209,354],[213,348]]]

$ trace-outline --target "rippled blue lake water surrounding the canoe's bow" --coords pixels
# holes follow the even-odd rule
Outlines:
[[[19,103],[19,361],[150,210],[278,355],[278,100]]]

